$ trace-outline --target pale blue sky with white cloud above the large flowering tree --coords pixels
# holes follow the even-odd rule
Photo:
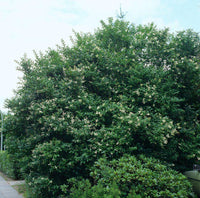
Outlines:
[[[200,0],[0,0],[0,110],[22,75],[14,60],[54,48],[61,39],[70,44],[73,29],[92,32],[100,20],[116,17],[120,6],[136,25],[200,32]]]

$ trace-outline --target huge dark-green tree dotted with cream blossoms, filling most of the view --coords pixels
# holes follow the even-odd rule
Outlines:
[[[70,178],[91,180],[101,157],[145,154],[178,171],[200,158],[199,35],[101,24],[75,33],[72,47],[19,61],[4,131],[15,177],[36,197],[58,197]]]

